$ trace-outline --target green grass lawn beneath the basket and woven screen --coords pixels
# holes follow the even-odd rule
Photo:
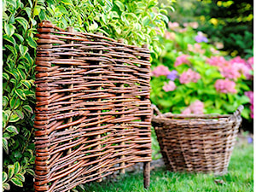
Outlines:
[[[215,180],[222,180],[217,184]],[[253,144],[236,146],[233,151],[229,173],[214,177],[212,174],[182,174],[167,172],[164,168],[151,171],[151,182],[148,190],[143,189],[143,173],[127,173],[119,177],[118,182],[111,180],[102,183],[89,183],[84,185],[85,190],[95,192],[249,192],[253,191]]]

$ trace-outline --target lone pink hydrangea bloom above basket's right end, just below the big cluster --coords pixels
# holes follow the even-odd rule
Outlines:
[[[236,83],[230,79],[218,79],[214,84],[215,89],[221,93],[236,93]]]

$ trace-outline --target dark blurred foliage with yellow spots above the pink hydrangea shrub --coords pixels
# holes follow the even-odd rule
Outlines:
[[[253,0],[177,1],[171,21],[198,21],[197,31],[207,33],[214,42],[224,44],[228,55],[253,56]]]

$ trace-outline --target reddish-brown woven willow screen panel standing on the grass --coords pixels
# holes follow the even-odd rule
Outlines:
[[[44,20],[36,60],[36,191],[67,191],[137,162],[149,184],[149,51]]]

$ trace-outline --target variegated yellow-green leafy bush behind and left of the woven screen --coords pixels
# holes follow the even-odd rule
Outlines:
[[[164,32],[168,7],[154,7],[157,3],[3,0],[3,189],[10,189],[10,184],[22,187],[26,173],[34,174],[34,34],[38,22],[50,20],[62,28],[74,26],[77,31],[102,32],[110,38],[125,38],[127,44],[150,44],[150,49],[159,51],[155,28]]]

